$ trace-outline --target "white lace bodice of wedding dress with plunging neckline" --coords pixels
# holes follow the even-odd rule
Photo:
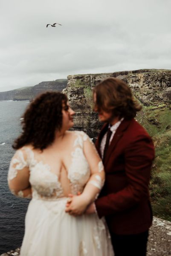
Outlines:
[[[60,163],[56,168],[59,172],[52,172],[55,168],[52,169],[52,166],[49,163],[44,162],[46,161],[45,155],[44,159],[42,159],[43,157],[40,157],[39,154],[29,146],[23,147],[23,150],[25,149],[26,151],[27,167],[29,167],[30,171],[29,181],[37,192],[39,186],[41,187],[41,190],[48,190],[48,187],[49,189],[52,189],[53,187],[54,191],[61,191],[60,196],[64,196],[66,193],[67,195],[68,193],[76,195],[78,191],[84,189],[91,173],[89,163],[83,150],[83,143],[88,136],[81,132],[75,132],[74,135],[76,136],[73,137],[72,150],[68,152],[68,154],[70,154],[70,159],[67,162],[69,165],[66,168],[66,165],[64,164],[65,170],[61,169],[61,166],[63,166],[64,163],[62,161],[62,165]],[[52,183],[52,185],[50,185],[50,183]],[[49,196],[50,195],[52,195],[52,192],[49,193]]]

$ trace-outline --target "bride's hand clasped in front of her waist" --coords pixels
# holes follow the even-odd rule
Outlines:
[[[67,201],[65,212],[71,215],[78,216],[83,214],[87,208],[88,201],[83,195],[70,195],[70,199]]]

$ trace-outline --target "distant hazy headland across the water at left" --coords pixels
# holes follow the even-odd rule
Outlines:
[[[0,100],[26,100],[33,99],[40,93],[47,90],[62,91],[67,86],[67,79],[57,79],[55,81],[45,81],[35,86],[25,87],[6,92],[0,92]]]

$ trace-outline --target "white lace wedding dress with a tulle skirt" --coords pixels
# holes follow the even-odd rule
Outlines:
[[[82,192],[90,179],[90,167],[84,156],[84,142],[90,138],[83,132],[73,132],[75,140],[71,152],[68,180],[72,194]],[[94,149],[95,150],[95,149]],[[96,153],[97,154],[97,153]],[[29,168],[29,183],[32,200],[26,213],[25,235],[20,251],[21,256],[113,256],[110,235],[104,219],[98,215],[74,217],[65,212],[67,197],[58,176],[44,161],[36,159],[32,149],[25,146],[17,150],[12,158],[8,181],[17,177],[24,168]],[[96,166],[103,169],[100,161]],[[100,186],[100,178],[89,181]],[[28,197],[23,191],[15,192]]]

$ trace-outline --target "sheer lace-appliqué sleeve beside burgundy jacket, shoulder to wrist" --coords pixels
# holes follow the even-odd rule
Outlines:
[[[84,190],[87,190],[88,187],[89,193],[91,193],[90,196],[92,197],[91,201],[94,201],[104,185],[104,166],[92,140],[84,132],[82,132],[82,135],[84,155],[91,171],[90,179]]]

